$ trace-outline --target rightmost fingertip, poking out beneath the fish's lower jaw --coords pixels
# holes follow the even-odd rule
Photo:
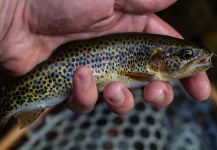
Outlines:
[[[210,81],[205,72],[180,80],[192,98],[203,101],[210,96]]]

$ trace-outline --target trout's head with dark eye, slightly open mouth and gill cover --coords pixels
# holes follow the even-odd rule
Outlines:
[[[150,63],[150,66],[154,70],[152,74],[157,80],[169,81],[206,71],[212,66],[212,56],[213,53],[202,46],[176,45],[163,50],[158,57],[152,58],[154,63]],[[157,69],[155,68],[156,62]]]

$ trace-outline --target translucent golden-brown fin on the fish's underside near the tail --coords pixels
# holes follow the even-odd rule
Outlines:
[[[14,115],[14,117],[18,121],[18,126],[20,127],[20,129],[23,129],[31,125],[43,111],[44,110],[32,110],[32,111],[18,112]]]

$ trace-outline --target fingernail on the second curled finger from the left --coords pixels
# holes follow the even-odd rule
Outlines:
[[[122,104],[124,102],[125,96],[124,96],[124,92],[122,90],[121,87],[116,87],[117,89],[114,90],[115,92],[113,93],[114,95],[111,96],[111,98],[109,98],[109,101],[113,104],[113,105],[118,105],[118,104]]]

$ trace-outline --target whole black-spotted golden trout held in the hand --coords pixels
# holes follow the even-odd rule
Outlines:
[[[112,81],[128,88],[192,76],[212,65],[212,52],[192,42],[162,35],[121,33],[61,45],[31,72],[0,93],[0,129],[15,116],[21,128],[72,92],[79,66],[93,70],[99,92]]]

